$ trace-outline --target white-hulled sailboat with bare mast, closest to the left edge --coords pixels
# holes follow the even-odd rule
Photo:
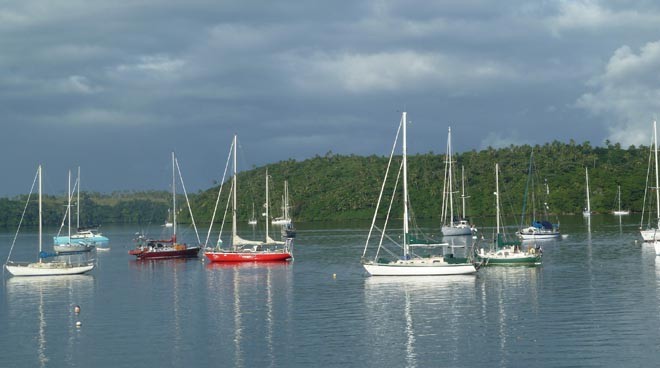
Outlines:
[[[16,237],[20,230],[20,224],[23,222],[25,217],[25,210],[23,211],[23,216],[21,221],[19,221],[18,229],[16,230],[16,236],[14,237],[14,242],[11,245],[9,250],[9,256],[7,256],[7,262],[5,263],[5,268],[9,273],[14,276],[58,276],[58,275],[75,275],[81,274],[88,271],[91,271],[94,268],[93,261],[79,262],[79,263],[70,263],[64,261],[52,261],[45,262],[43,260],[45,255],[42,251],[43,245],[43,206],[42,206],[42,180],[41,180],[41,165],[37,169],[37,177],[39,181],[39,259],[36,262],[13,262],[10,261],[12,250],[16,243]],[[37,178],[35,178],[36,181]],[[34,182],[32,188],[30,189],[30,195],[28,195],[28,203],[30,197],[32,196],[32,190],[34,189]],[[26,206],[27,209],[27,206]]]

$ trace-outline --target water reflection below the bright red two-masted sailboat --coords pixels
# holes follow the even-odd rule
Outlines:
[[[233,344],[209,341],[218,356],[231,356],[233,366],[286,366],[277,361],[288,346],[278,343],[293,324],[293,265],[290,262],[206,264],[208,326],[212,331],[233,326]],[[277,318],[275,316],[278,316]],[[279,328],[277,327],[279,326]],[[278,339],[276,334],[284,334]],[[249,337],[249,338],[247,338]],[[281,346],[280,346],[281,345]],[[254,353],[259,352],[259,353]],[[263,352],[267,352],[263,354]]]

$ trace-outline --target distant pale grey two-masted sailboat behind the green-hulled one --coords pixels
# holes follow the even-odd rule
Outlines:
[[[447,154],[445,156],[445,182],[442,191],[442,235],[470,235],[474,231],[470,223],[464,218],[454,218],[454,170],[451,151],[451,127],[447,133]],[[465,216],[465,182],[463,181],[463,213]]]

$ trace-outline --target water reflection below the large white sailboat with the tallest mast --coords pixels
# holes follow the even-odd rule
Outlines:
[[[465,308],[474,305],[476,275],[369,277],[364,281],[368,316],[365,334],[371,335],[367,361],[384,366],[415,367],[429,361],[438,346],[452,364],[461,366],[458,346],[465,323]],[[428,355],[428,356],[427,356]],[[402,358],[403,357],[403,358]],[[405,359],[405,361],[401,361]]]

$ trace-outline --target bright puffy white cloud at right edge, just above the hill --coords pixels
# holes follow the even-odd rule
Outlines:
[[[628,46],[614,52],[603,74],[593,78],[593,92],[576,105],[609,125],[609,139],[622,145],[648,144],[650,122],[660,111],[660,41],[639,53]]]

